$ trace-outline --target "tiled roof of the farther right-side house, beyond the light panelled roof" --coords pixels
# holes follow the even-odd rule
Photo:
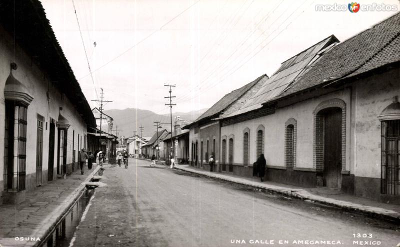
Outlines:
[[[257,79],[253,80],[252,82],[247,83],[246,85],[226,94],[220,100],[218,100],[214,105],[212,105],[208,110],[206,110],[201,116],[199,116],[193,123],[196,123],[204,118],[211,117],[221,113],[229,105],[238,100],[247,90],[249,90],[252,86],[254,86],[259,80],[266,78],[268,78],[268,76],[266,74],[263,74],[259,76]]]

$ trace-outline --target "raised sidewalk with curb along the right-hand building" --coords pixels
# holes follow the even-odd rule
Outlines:
[[[272,193],[305,201],[317,202],[324,205],[334,206],[348,211],[354,211],[369,216],[400,223],[400,206],[379,203],[373,200],[346,195],[339,190],[329,188],[302,188],[284,185],[274,182],[259,182],[257,178],[246,178],[226,173],[208,172],[190,167],[189,165],[178,165],[178,170],[199,174],[202,176],[229,181],[236,184],[250,186]]]

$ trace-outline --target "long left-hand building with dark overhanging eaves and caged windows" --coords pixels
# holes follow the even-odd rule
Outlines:
[[[0,33],[0,203],[18,204],[78,169],[95,120],[38,0],[1,1]]]

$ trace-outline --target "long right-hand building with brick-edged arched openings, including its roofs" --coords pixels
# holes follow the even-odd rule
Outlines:
[[[239,110],[221,116],[222,163],[232,157],[230,172],[251,176],[263,153],[269,181],[400,203],[399,35],[395,14],[283,62]],[[277,89],[275,77],[308,55]]]

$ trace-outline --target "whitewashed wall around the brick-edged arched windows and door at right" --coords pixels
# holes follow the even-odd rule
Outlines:
[[[297,121],[296,136],[296,167],[313,168],[313,110],[322,101],[338,98],[346,102],[347,112],[349,112],[349,90],[342,90],[318,98],[298,102],[284,108],[279,108],[274,114],[263,116],[256,119],[247,120],[237,124],[221,127],[222,137],[234,135],[234,154],[233,163],[243,163],[243,130],[248,127],[249,133],[249,164],[256,161],[256,129],[262,124],[265,128],[264,133],[264,156],[269,166],[284,167],[284,133],[285,122],[289,118]],[[347,117],[347,133],[349,133],[349,118]],[[346,135],[346,148],[349,147],[348,134]],[[220,147],[222,154],[222,146]],[[349,150],[347,150],[347,153]],[[226,140],[226,161],[228,155],[228,140]],[[346,156],[348,158],[348,155]],[[348,165],[348,162],[346,162]]]

